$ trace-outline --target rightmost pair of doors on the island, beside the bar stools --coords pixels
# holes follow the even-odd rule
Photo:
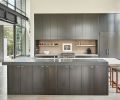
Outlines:
[[[102,65],[82,65],[82,94],[107,95],[108,69]]]

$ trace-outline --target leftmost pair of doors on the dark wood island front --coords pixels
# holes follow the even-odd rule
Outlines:
[[[32,65],[8,65],[8,94],[32,94]]]

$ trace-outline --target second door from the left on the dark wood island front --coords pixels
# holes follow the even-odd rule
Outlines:
[[[21,65],[21,94],[32,94],[32,65]]]

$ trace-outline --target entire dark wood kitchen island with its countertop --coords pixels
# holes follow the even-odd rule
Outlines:
[[[15,59],[8,68],[8,94],[108,95],[103,59]]]

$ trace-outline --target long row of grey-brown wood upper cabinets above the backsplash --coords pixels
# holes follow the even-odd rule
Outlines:
[[[36,14],[35,40],[98,39],[100,32],[114,32],[114,19],[115,14]]]

